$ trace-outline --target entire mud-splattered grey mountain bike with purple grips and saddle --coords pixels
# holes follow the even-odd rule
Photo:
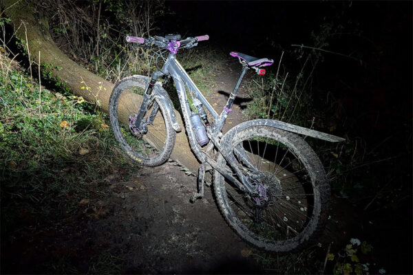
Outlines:
[[[151,49],[165,63],[147,76],[120,80],[109,100],[109,115],[123,150],[143,166],[158,166],[169,159],[181,131],[173,104],[165,90],[173,80],[189,144],[200,162],[198,192],[204,195],[205,173],[213,175],[213,190],[222,216],[242,239],[258,248],[289,252],[304,248],[324,229],[330,187],[324,167],[300,135],[329,142],[343,138],[278,120],[258,119],[234,126],[224,135],[222,126],[231,113],[242,78],[248,69],[265,74],[269,58],[240,52],[242,72],[221,113],[202,96],[176,60],[179,50],[190,49],[209,36],[181,39],[179,34],[126,41]]]

